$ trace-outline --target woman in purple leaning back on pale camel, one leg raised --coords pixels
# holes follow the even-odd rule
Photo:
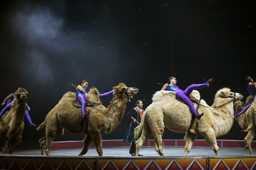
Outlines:
[[[176,97],[181,101],[185,102],[186,104],[188,104],[189,110],[195,115],[196,119],[199,120],[204,115],[204,112],[202,112],[201,114],[198,114],[196,112],[195,107],[193,106],[192,101],[188,98],[188,96],[194,89],[202,89],[204,87],[209,87],[211,82],[212,82],[212,79],[209,79],[204,84],[191,84],[190,86],[187,87],[185,91],[183,91],[178,86],[176,86],[176,83],[177,83],[176,78],[170,77],[168,78],[168,82],[164,84],[161,90],[174,91],[176,93]]]

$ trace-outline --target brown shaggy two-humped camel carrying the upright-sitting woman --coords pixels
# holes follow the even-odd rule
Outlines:
[[[124,83],[119,83],[113,89],[115,97],[109,103],[108,108],[101,104],[98,97],[99,91],[96,88],[90,89],[87,102],[96,103],[98,106],[92,110],[84,125],[81,124],[82,113],[72,104],[76,100],[76,94],[72,92],[64,94],[59,103],[46,115],[44,122],[37,128],[39,130],[46,126],[46,136],[39,140],[41,155],[44,155],[44,152],[46,155],[51,155],[52,140],[60,138],[64,134],[65,128],[71,133],[86,135],[83,140],[84,147],[79,156],[88,151],[92,142],[95,144],[99,156],[102,156],[101,129],[104,127],[105,133],[115,130],[124,116],[126,102],[139,91],[137,88],[126,87]],[[86,106],[86,112],[91,108]]]

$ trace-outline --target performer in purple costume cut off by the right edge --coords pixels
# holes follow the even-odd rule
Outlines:
[[[236,114],[234,117],[238,117],[239,115],[246,112],[246,110],[252,105],[252,101],[254,100],[254,97],[256,95],[256,82],[253,82],[252,77],[249,75],[245,76],[245,81],[248,84],[247,92],[251,95],[251,104],[249,104],[250,100],[246,101],[246,103],[243,106],[244,109],[240,113]]]

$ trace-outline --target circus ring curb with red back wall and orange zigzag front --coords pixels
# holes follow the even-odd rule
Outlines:
[[[179,154],[184,151],[184,140],[163,140],[164,149],[172,150],[179,149]],[[75,149],[83,147],[82,141],[67,141],[67,142],[53,142],[52,156],[29,155],[23,151],[22,155],[0,154],[0,169],[256,169],[256,155],[249,155],[248,149],[243,149],[244,141],[234,140],[217,140],[218,146],[221,150],[232,149],[236,151],[235,155],[208,155],[199,153],[194,156],[143,156],[132,157],[118,155],[109,156],[113,150],[121,151],[122,149],[129,152],[129,143],[124,143],[122,140],[104,140],[102,141],[103,155],[108,153],[108,156],[65,156],[61,155],[61,151],[68,150],[72,153]],[[154,151],[154,140],[148,140],[144,143],[141,150],[150,148]],[[95,146],[92,144],[94,155],[97,154]],[[211,147],[204,140],[196,140],[191,149],[212,150]],[[252,148],[256,148],[256,141],[252,141]],[[240,152],[243,151],[243,152]],[[40,152],[40,151],[39,151]],[[156,155],[156,151],[154,151]],[[254,150],[256,153],[256,151]],[[121,153],[121,152],[120,152]],[[153,153],[153,152],[152,152]],[[220,152],[221,154],[221,152]],[[56,156],[54,156],[56,155]],[[57,156],[60,155],[60,156]],[[85,154],[86,155],[86,154]]]

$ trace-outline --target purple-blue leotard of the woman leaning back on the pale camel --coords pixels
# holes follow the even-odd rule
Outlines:
[[[194,89],[202,89],[204,87],[209,87],[209,86],[210,86],[209,84],[191,84],[190,86],[188,86],[188,88],[185,91],[183,91],[176,85],[168,84],[168,87],[166,90],[174,91],[176,93],[176,97],[181,101],[185,102],[186,104],[188,104],[190,111],[196,116],[198,115],[198,113],[196,112],[196,109],[192,101],[190,100],[190,98],[188,98],[188,96]]]

